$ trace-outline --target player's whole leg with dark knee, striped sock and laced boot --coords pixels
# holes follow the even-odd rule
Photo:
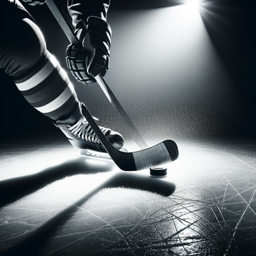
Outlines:
[[[0,67],[13,76],[25,99],[52,118],[75,147],[104,151],[81,113],[80,102],[66,73],[47,51],[43,35],[32,18],[17,4],[20,5],[18,1],[1,1],[0,29],[6,36],[0,39]],[[15,26],[6,22],[3,9],[9,15],[14,12]],[[122,147],[120,134],[106,128],[102,131],[116,148]]]

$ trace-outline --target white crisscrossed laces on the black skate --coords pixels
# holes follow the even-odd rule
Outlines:
[[[96,119],[93,117],[93,119]],[[96,119],[98,120],[98,119]],[[100,127],[102,133],[105,135],[108,131],[111,131],[111,129]],[[84,116],[81,116],[78,122],[76,122],[75,125],[71,126],[68,128],[71,133],[73,133],[75,136],[82,138],[82,140],[94,142],[94,143],[99,143],[99,138],[96,136],[95,132],[93,129],[90,127],[89,123],[87,120],[84,118]]]

